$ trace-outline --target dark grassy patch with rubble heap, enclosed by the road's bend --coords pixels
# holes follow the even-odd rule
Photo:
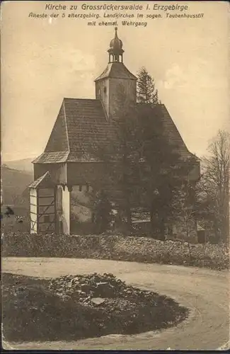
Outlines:
[[[112,274],[50,280],[2,275],[5,341],[73,341],[164,329],[188,316],[173,299],[126,285]]]

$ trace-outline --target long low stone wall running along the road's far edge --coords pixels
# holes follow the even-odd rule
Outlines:
[[[159,241],[122,235],[57,236],[55,234],[7,234],[3,256],[75,257],[195,265],[217,270],[229,268],[229,253],[223,245]]]

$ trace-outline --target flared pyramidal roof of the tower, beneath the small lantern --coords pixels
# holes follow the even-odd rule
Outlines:
[[[111,79],[132,79],[137,77],[132,74],[122,62],[110,62],[100,76],[95,81],[110,77]]]

